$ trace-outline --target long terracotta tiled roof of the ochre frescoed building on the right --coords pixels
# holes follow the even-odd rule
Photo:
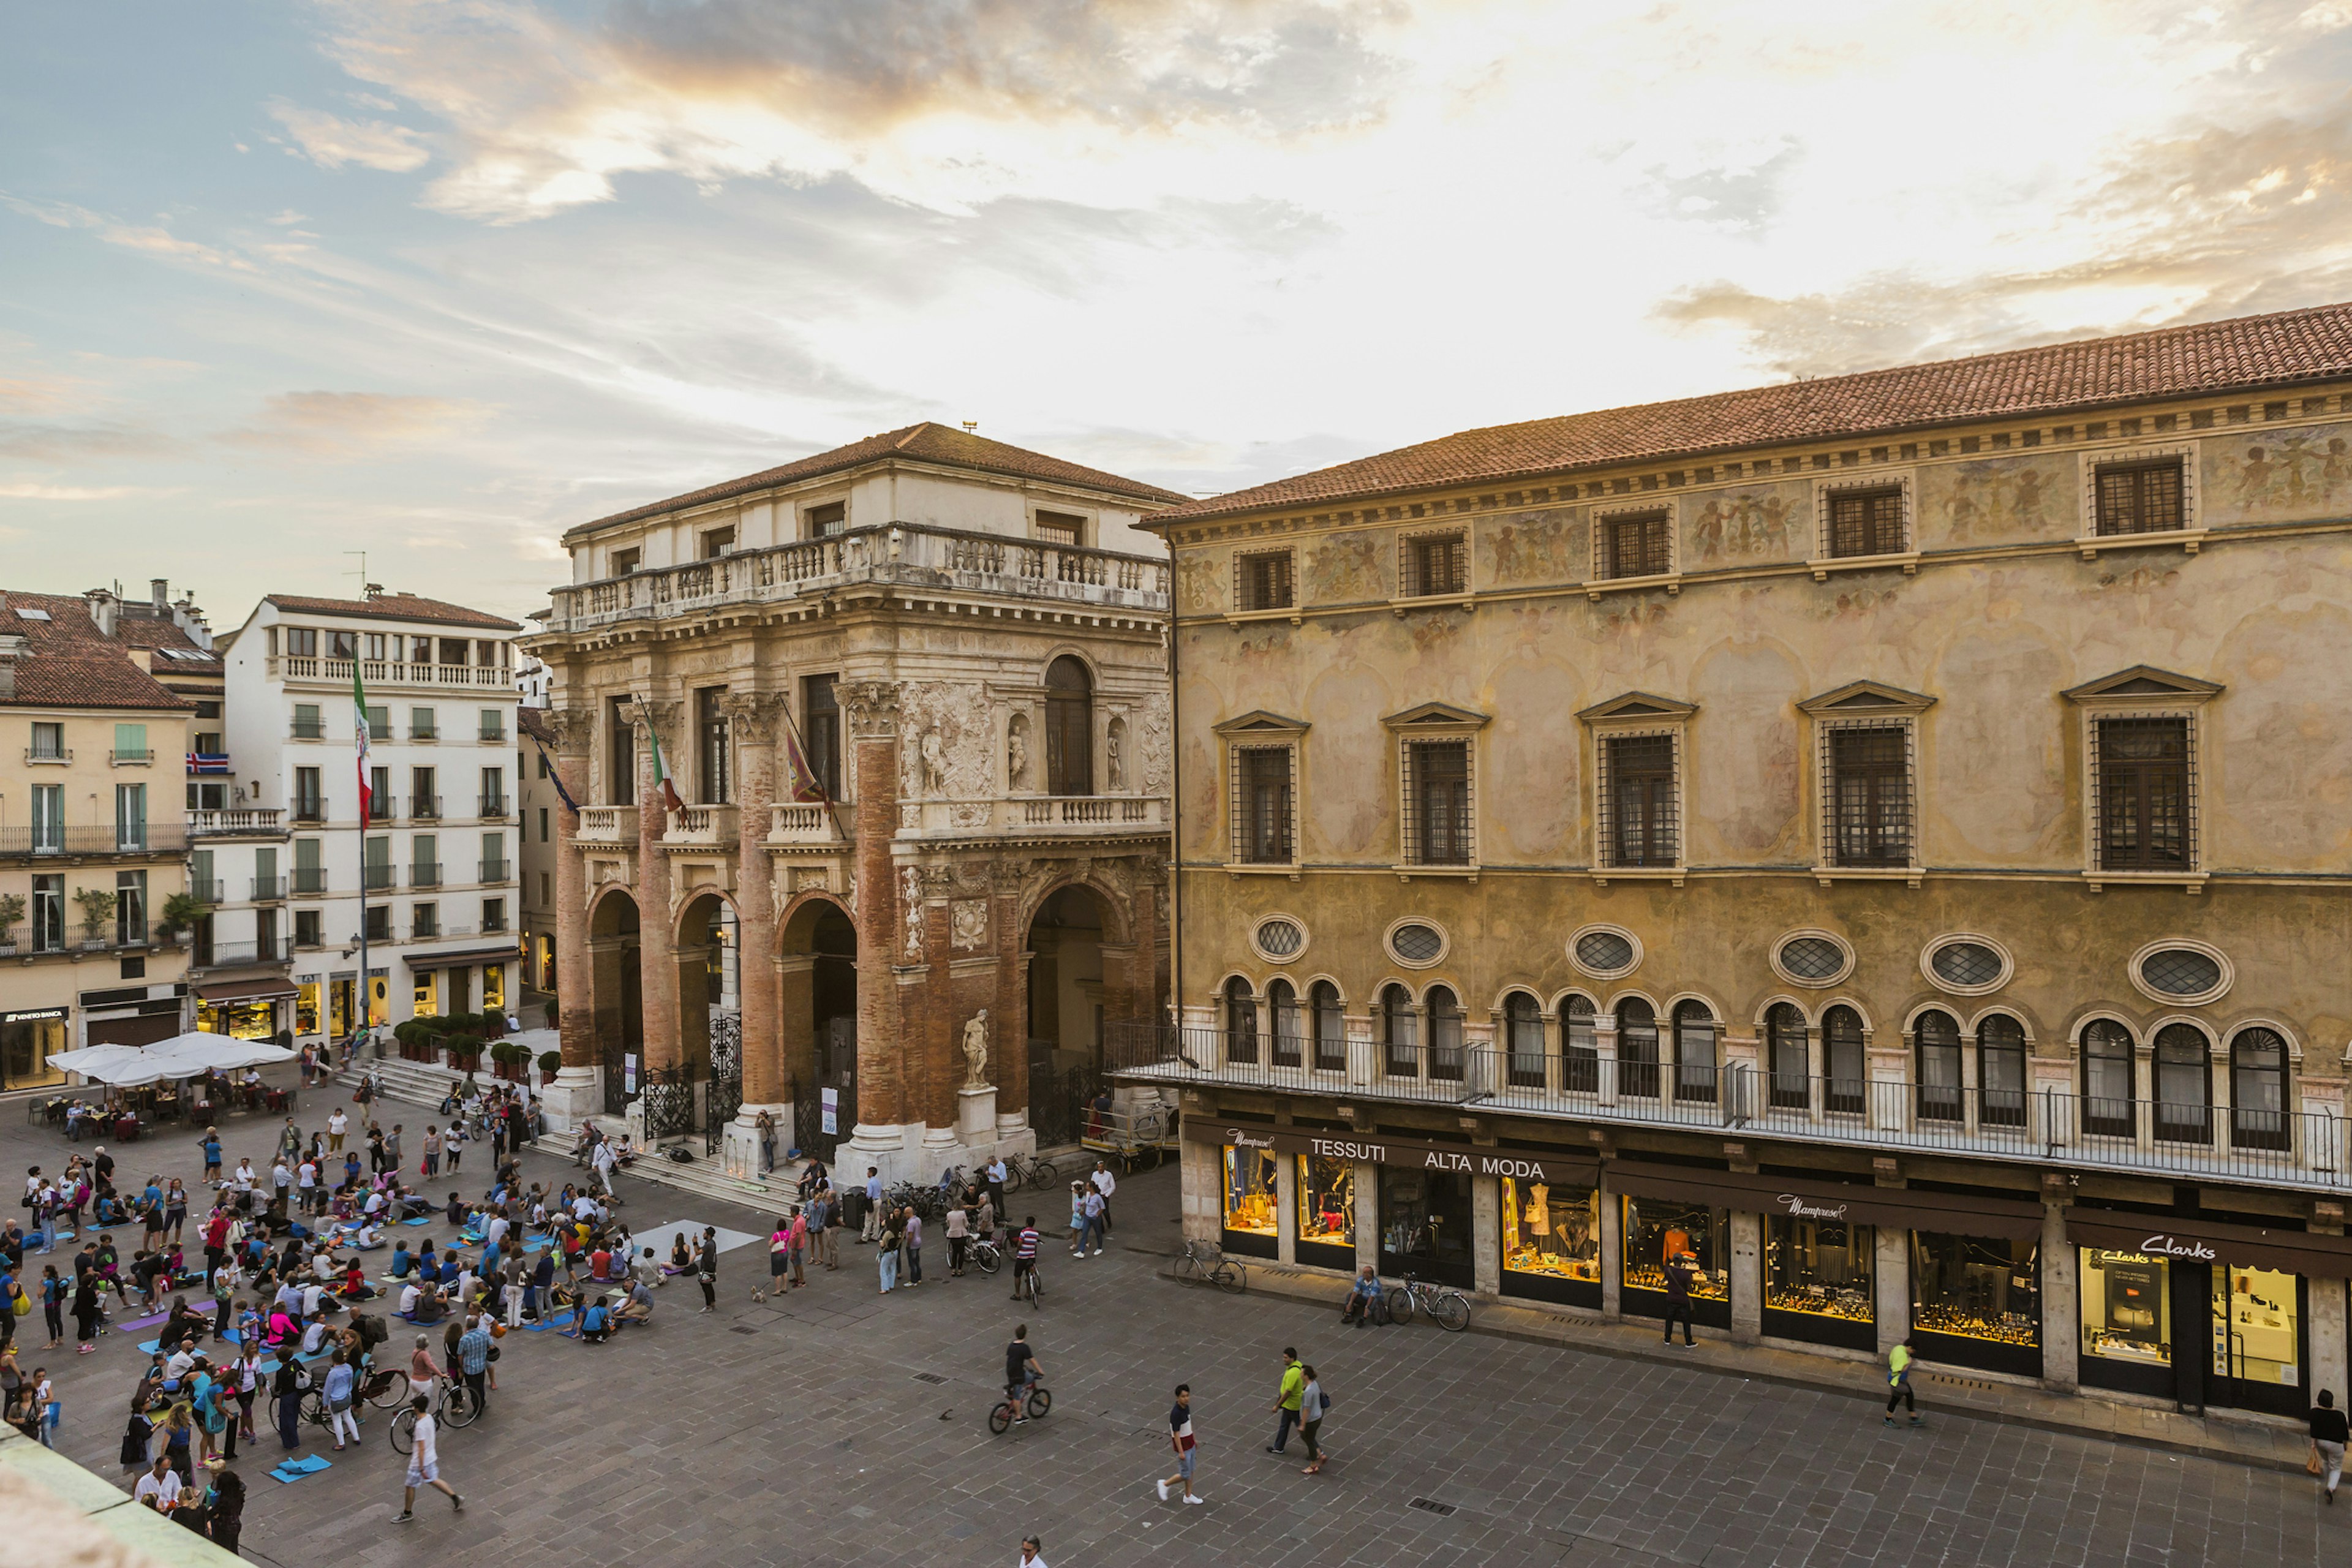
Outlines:
[[[2314,306],[1463,430],[1192,501],[1152,515],[1150,527],[1449,484],[1543,480],[1581,468],[1696,458],[1743,447],[1886,437],[2159,397],[2223,397],[2343,376],[2352,376],[2352,303]]]

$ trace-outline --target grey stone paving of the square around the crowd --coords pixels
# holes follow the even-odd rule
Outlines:
[[[405,1105],[397,1117],[414,1147],[426,1117]],[[235,1119],[223,1135],[235,1164],[268,1131]],[[54,1168],[64,1152],[21,1121],[0,1126],[12,1171]],[[132,1171],[198,1171],[193,1138],[115,1154]],[[562,1173],[562,1159],[527,1161],[534,1180]],[[470,1190],[487,1180],[468,1175]],[[621,1190],[640,1227],[764,1229],[727,1204]],[[400,1458],[381,1415],[334,1469],[294,1486],[266,1476],[282,1450],[263,1432],[259,1462],[242,1465],[247,1556],[440,1563],[489,1547],[633,1566],[962,1566],[1011,1563],[1035,1530],[1056,1568],[2140,1568],[2317,1563],[2324,1540],[2338,1554],[2352,1542],[2352,1497],[2321,1509],[2300,1476],[1933,1406],[1924,1432],[1886,1432],[1872,1403],[1832,1392],[1477,1333],[1338,1331],[1305,1302],[1174,1286],[1155,1276],[1174,1215],[1176,1173],[1143,1175],[1120,1190],[1103,1258],[1047,1253],[1047,1302],[1028,1316],[1054,1413],[1007,1436],[985,1427],[1021,1316],[1007,1279],[943,1279],[934,1241],[924,1284],[882,1298],[873,1248],[844,1246],[842,1272],[755,1305],[764,1260],[741,1248],[724,1258],[717,1314],[696,1316],[699,1295],[673,1286],[647,1333],[609,1347],[508,1335],[489,1415],[442,1439],[463,1516],[426,1495],[416,1523],[390,1523]],[[108,1479],[122,1476],[132,1338],[108,1335],[92,1356],[71,1342],[26,1356],[59,1378],[66,1453]],[[1334,1396],[1322,1476],[1298,1474],[1296,1439],[1284,1460],[1263,1453],[1282,1345],[1298,1345]],[[1207,1507],[1162,1505],[1150,1486],[1167,1472],[1178,1380],[1195,1389]]]

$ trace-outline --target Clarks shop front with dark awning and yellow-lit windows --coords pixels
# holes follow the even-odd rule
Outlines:
[[[2310,1408],[2310,1281],[2352,1279],[2352,1239],[2114,1208],[2067,1208],[2065,1229],[2084,1269],[2086,1385],[2183,1410]]]

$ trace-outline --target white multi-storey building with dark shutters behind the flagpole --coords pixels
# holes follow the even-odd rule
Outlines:
[[[242,799],[289,827],[294,1034],[508,1009],[517,994],[515,670],[522,630],[369,590],[268,595],[219,639]],[[353,668],[369,710],[360,818]]]

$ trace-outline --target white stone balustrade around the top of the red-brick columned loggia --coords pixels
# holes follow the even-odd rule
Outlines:
[[[891,522],[557,588],[548,630],[581,632],[619,621],[699,616],[724,604],[786,602],[851,583],[1051,599],[1150,616],[1167,614],[1169,607],[1164,557]]]

